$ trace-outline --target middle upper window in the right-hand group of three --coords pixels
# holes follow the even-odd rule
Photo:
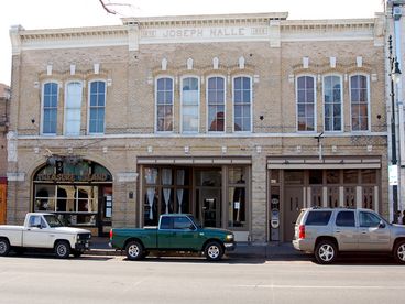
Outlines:
[[[325,131],[342,131],[341,77],[324,77]]]

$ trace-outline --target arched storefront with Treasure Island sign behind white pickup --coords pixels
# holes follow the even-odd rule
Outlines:
[[[54,213],[98,236],[111,228],[112,176],[100,164],[59,158],[35,173],[33,191],[32,211]]]

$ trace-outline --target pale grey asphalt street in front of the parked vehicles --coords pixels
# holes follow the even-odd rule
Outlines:
[[[0,258],[0,303],[404,303],[391,260]]]

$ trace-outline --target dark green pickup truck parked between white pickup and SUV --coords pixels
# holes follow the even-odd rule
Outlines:
[[[158,227],[111,229],[110,247],[125,250],[129,260],[145,258],[150,251],[193,251],[218,261],[236,245],[232,231],[201,228],[191,215],[165,214]]]

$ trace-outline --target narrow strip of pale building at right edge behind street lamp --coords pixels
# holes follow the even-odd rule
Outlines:
[[[401,77],[396,82],[387,78],[386,98],[388,128],[388,152],[390,152],[390,215],[391,219],[402,219],[405,210],[405,119],[404,119],[404,75],[405,65],[405,1],[386,1],[386,75],[391,76],[395,62],[398,64]],[[390,40],[391,36],[391,52]],[[394,109],[394,111],[392,110]],[[395,113],[394,116],[392,113]]]

